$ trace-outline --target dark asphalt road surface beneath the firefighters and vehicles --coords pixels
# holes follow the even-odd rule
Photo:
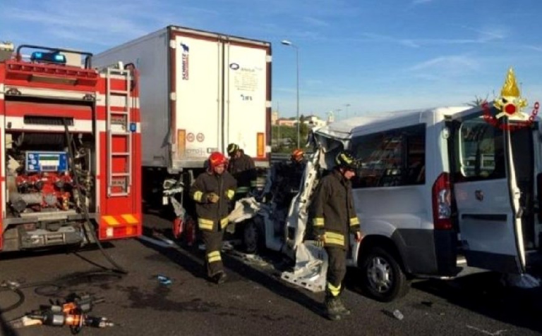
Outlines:
[[[146,216],[147,234],[167,223]],[[128,270],[128,275],[89,276],[109,267],[99,250],[68,253],[1,255],[0,282],[23,285],[52,282],[23,289],[22,306],[2,314],[5,321],[48,304],[71,292],[89,292],[106,301],[94,316],[116,323],[107,329],[85,328],[80,335],[539,335],[542,332],[542,295],[536,291],[500,286],[492,273],[469,275],[453,281],[414,282],[404,299],[382,304],[363,296],[349,272],[344,301],[352,315],[342,321],[320,316],[323,294],[313,294],[282,282],[259,268],[225,256],[229,281],[207,282],[203,252],[164,248],[132,239],[114,242],[107,253]],[[110,274],[109,274],[110,275]],[[162,285],[157,275],[166,275]],[[0,292],[0,307],[16,302],[16,295]],[[398,309],[399,321],[392,316]],[[15,335],[71,335],[68,328],[36,326]]]

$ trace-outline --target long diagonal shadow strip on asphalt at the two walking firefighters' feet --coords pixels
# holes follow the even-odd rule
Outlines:
[[[171,230],[169,229],[143,228],[143,235],[147,235],[147,237],[152,237],[153,233],[157,232],[168,239],[172,239]],[[159,247],[143,240],[140,240],[139,242],[145,247],[154,249],[155,251],[159,252],[159,254],[166,256],[169,260],[183,267],[184,270],[190,272],[195,278],[207,280],[205,269],[203,268],[204,252],[198,250],[197,245],[194,247],[177,245],[177,247],[180,249],[171,249]],[[246,263],[229,256],[227,253],[223,253],[222,257],[224,261],[224,268],[226,268],[227,271],[234,272],[236,275],[239,275],[239,277],[246,280],[256,282],[262,287],[265,287],[267,290],[284,297],[284,299],[294,301],[296,304],[305,307],[313,313],[317,313],[320,316],[323,315],[323,305],[308,295],[303,294],[299,288],[290,287],[284,282],[284,280],[275,278],[275,276],[265,273],[263,270],[258,270],[248,266]],[[230,281],[231,280],[232,279],[230,279]]]

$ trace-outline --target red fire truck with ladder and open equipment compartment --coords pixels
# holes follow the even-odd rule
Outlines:
[[[138,73],[90,56],[0,44],[0,251],[141,235]]]

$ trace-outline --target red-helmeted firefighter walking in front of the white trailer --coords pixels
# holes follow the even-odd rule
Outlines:
[[[195,201],[198,228],[205,243],[207,276],[220,284],[226,280],[220,250],[224,229],[228,225],[229,202],[234,198],[236,180],[226,171],[227,158],[214,152],[207,170],[195,179],[190,196]]]

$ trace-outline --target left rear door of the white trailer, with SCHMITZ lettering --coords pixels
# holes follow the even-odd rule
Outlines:
[[[222,144],[222,47],[216,38],[175,32],[171,38],[174,161],[201,167]]]

